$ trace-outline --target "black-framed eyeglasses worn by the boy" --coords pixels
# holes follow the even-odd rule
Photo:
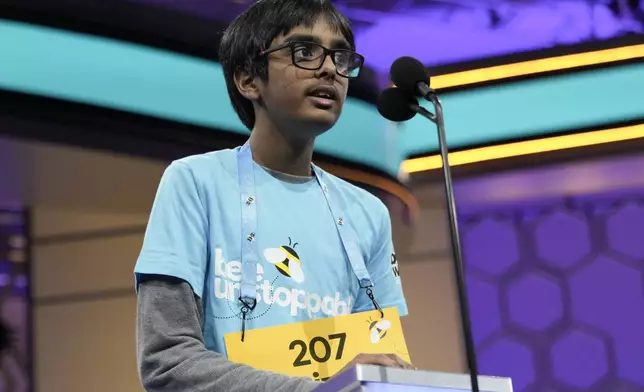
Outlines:
[[[345,78],[357,78],[360,74],[364,57],[347,49],[327,49],[315,42],[293,41],[260,52],[260,56],[290,48],[291,61],[298,68],[316,71],[322,68],[326,56],[331,56],[338,75]]]

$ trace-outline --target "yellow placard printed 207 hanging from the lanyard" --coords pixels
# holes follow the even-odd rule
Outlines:
[[[324,381],[361,353],[396,354],[411,362],[398,309],[246,331],[224,337],[228,359],[256,369]]]

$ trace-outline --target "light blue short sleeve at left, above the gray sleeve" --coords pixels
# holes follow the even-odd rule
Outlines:
[[[142,274],[156,274],[184,280],[202,296],[209,235],[204,205],[190,166],[181,161],[168,166],[134,268],[137,289]]]

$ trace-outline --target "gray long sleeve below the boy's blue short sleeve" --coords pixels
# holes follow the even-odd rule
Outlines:
[[[206,349],[203,304],[188,283],[148,276],[138,289],[137,357],[148,392],[308,392],[319,383],[230,362]]]

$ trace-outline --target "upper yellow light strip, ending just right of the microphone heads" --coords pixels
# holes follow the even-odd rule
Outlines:
[[[523,61],[519,63],[434,76],[432,77],[432,88],[439,90],[447,87],[463,86],[467,84],[532,75],[542,72],[612,63],[615,61],[630,60],[640,57],[644,57],[644,44],[548,57],[545,59]]]

